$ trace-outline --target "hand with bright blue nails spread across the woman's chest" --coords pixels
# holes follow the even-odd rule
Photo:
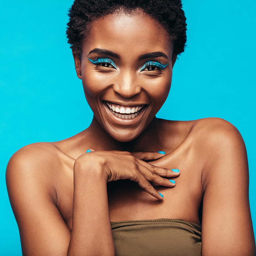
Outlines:
[[[177,177],[180,173],[172,170],[157,167],[145,162],[146,160],[157,160],[163,157],[158,152],[145,151],[94,151],[86,153],[86,157],[93,157],[95,161],[101,161],[101,165],[107,174],[107,182],[112,180],[130,179],[134,180],[150,195],[162,200],[163,197],[150,184],[174,187],[175,183],[163,177]]]

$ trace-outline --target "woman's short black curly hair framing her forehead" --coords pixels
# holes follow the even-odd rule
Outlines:
[[[165,28],[174,42],[174,55],[178,55],[184,52],[187,40],[186,17],[181,8],[181,0],[75,0],[68,13],[68,43],[74,52],[81,54],[82,40],[96,19],[120,9],[125,12],[142,10]]]

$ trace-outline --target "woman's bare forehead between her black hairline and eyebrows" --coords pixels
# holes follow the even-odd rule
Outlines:
[[[83,54],[94,48],[121,55],[161,51],[171,57],[173,47],[166,30],[147,14],[116,12],[92,24],[82,47]]]

